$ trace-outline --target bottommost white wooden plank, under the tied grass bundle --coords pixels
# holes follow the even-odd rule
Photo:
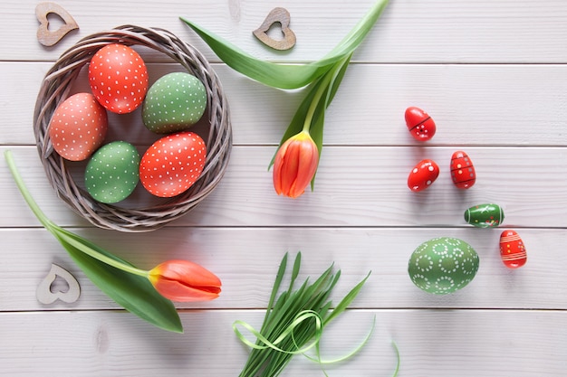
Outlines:
[[[246,350],[232,333],[236,319],[259,326],[262,312],[181,313],[184,335],[164,334],[120,312],[0,314],[5,375],[234,376]],[[562,376],[564,313],[508,310],[355,310],[330,325],[322,357],[338,358],[376,328],[351,361],[325,368],[330,375]],[[35,344],[20,336],[34,334]],[[479,334],[483,334],[480,337]],[[7,336],[6,336],[7,335]],[[220,341],[222,339],[222,342]],[[341,339],[341,341],[338,341]],[[26,354],[34,354],[34,363]],[[77,363],[74,360],[79,359]],[[123,374],[122,374],[123,373]],[[282,376],[322,375],[318,363],[296,356]]]

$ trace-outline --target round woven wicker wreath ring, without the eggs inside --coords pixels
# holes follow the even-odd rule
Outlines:
[[[122,208],[92,199],[84,188],[75,184],[62,156],[53,151],[48,133],[55,109],[67,99],[82,67],[101,47],[117,42],[165,53],[201,80],[207,89],[206,114],[210,128],[203,173],[185,193],[146,208]],[[225,174],[232,147],[228,104],[221,83],[205,57],[166,30],[132,25],[92,34],[63,52],[43,79],[34,109],[34,134],[47,178],[62,201],[92,224],[117,231],[153,231],[186,214],[215,189]]]

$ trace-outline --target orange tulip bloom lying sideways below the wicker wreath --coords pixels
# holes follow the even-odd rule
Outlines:
[[[188,260],[163,262],[149,270],[148,278],[159,294],[173,301],[208,301],[220,294],[220,279]]]

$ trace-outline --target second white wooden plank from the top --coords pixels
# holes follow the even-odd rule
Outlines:
[[[3,65],[0,80],[6,88],[19,90],[0,92],[5,114],[0,125],[2,144],[34,144],[33,129],[28,126],[33,124],[37,92],[51,65]],[[225,65],[213,67],[226,89],[235,145],[277,145],[304,90],[266,88]],[[150,80],[176,70],[177,65],[151,64]],[[352,63],[328,110],[325,144],[418,146],[404,121],[404,110],[418,106],[427,108],[437,123],[437,134],[428,146],[565,146],[566,75],[567,68],[561,64]],[[81,79],[77,90],[89,90],[86,76]],[[143,129],[138,113],[129,121]],[[110,119],[111,124],[120,124],[117,117]],[[109,137],[120,135],[116,129],[112,132]],[[148,137],[140,132],[130,140],[147,142]]]

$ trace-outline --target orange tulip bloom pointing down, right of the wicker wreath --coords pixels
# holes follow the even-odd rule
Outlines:
[[[308,131],[290,137],[275,155],[275,192],[297,198],[312,181],[318,164],[319,151]]]

